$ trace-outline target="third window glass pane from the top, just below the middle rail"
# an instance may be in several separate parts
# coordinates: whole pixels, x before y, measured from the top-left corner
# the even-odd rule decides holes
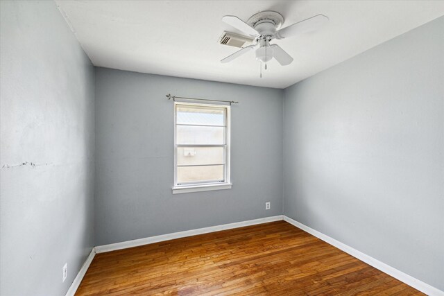
[[[178,166],[196,164],[223,164],[223,147],[178,147]]]

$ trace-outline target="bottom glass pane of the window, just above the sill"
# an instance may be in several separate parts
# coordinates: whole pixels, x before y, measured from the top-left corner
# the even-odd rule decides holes
[[[178,166],[178,183],[223,181],[223,166]]]

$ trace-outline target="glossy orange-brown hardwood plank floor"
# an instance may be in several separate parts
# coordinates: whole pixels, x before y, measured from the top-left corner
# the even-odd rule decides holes
[[[278,221],[97,254],[76,295],[424,295]]]

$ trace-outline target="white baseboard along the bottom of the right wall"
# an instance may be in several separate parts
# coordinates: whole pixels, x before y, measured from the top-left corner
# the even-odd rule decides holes
[[[399,279],[403,283],[413,288],[416,288],[416,290],[420,290],[422,293],[425,293],[429,296],[444,296],[444,292],[442,290],[430,286],[429,284],[426,284],[425,282],[420,281],[419,279],[411,277],[410,275],[407,275],[406,273],[397,270],[396,268],[393,268],[390,265],[387,265],[386,263],[383,263],[373,257],[370,257],[367,254],[364,254],[363,252],[359,252],[358,250],[350,247],[349,245],[345,245],[340,241],[336,241],[334,238],[331,238],[330,236],[318,232],[317,230],[310,228],[307,225],[299,223],[298,221],[293,220],[287,216],[284,216],[284,221],[287,221],[291,225],[294,225],[302,229],[303,231],[308,232],[309,234],[316,236],[317,238],[320,238],[326,243],[329,243],[330,245],[333,245],[334,247],[343,250],[343,252],[348,253],[361,261],[364,261],[368,265],[372,265],[374,268],[377,268],[378,270],[385,272],[387,275],[390,275],[395,279]]]

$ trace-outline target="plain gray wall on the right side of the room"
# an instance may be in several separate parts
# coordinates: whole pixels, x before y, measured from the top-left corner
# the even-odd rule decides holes
[[[284,91],[284,214],[441,290],[443,32],[441,17]]]

